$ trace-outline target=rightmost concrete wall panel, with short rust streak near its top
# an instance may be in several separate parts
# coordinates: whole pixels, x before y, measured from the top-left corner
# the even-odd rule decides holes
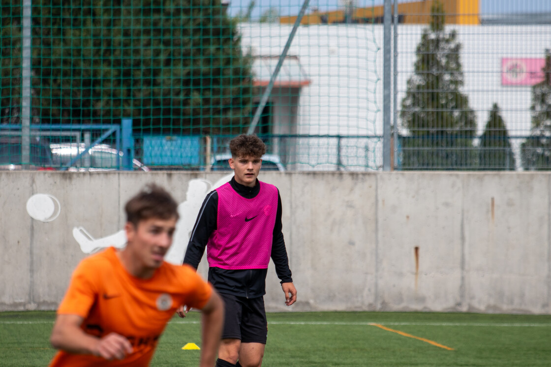
[[[469,310],[548,312],[550,177],[464,176]]]

